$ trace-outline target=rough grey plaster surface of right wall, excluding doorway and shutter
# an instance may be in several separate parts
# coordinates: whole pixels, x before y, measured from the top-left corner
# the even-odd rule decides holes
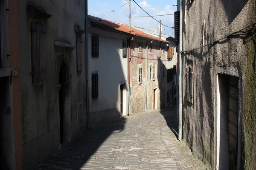
[[[252,65],[255,42],[248,37],[251,33],[246,32],[247,29],[226,36],[255,22],[255,0],[205,0],[194,1],[192,4],[184,0],[183,9],[182,51],[188,51],[182,53],[183,139],[194,155],[202,159],[210,169],[216,168],[217,74],[239,77],[238,135],[241,137],[238,139],[238,154],[244,160],[241,168],[250,169],[255,166],[255,156],[252,156],[255,151],[255,147],[252,147],[255,129],[252,121],[255,119],[255,82],[252,83],[255,78],[255,66]],[[204,45],[219,41],[207,45],[202,51],[203,34]],[[198,49],[193,50],[195,48]],[[193,104],[186,100],[187,65],[193,66]]]

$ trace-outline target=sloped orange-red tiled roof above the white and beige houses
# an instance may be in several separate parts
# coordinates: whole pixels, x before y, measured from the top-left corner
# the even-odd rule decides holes
[[[109,28],[112,28],[112,29],[115,29],[115,30],[118,30],[118,31],[126,32],[126,33],[129,33],[129,34],[134,34],[134,35],[137,35],[137,36],[140,36],[140,37],[145,37],[145,38],[148,38],[148,39],[151,39],[151,40],[157,40],[157,41],[162,41],[162,42],[169,43],[169,41],[161,40],[157,37],[154,37],[150,34],[144,33],[143,31],[137,30],[137,29],[132,28],[132,27],[131,27],[131,32],[129,32],[129,26],[127,26],[125,24],[114,23],[112,21],[105,20],[105,19],[98,18],[98,17],[93,17],[91,15],[88,15],[88,20],[90,22],[97,23],[97,24],[102,25],[102,26],[107,26]]]

